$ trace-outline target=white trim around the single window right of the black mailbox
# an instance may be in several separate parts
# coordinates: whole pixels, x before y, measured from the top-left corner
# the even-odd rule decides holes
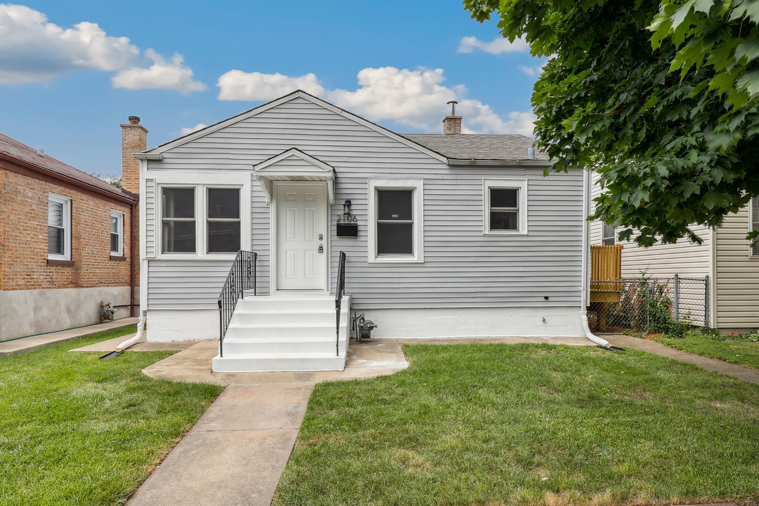
[[[367,262],[369,263],[423,263],[424,262],[424,180],[423,179],[370,179],[368,180]],[[376,190],[413,190],[414,254],[377,255]]]

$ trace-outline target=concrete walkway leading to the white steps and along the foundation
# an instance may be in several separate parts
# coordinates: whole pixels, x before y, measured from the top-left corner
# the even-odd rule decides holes
[[[143,372],[154,378],[228,386],[127,504],[269,506],[313,385],[405,369],[403,343],[472,342],[593,344],[585,338],[376,339],[351,343],[344,371],[212,373],[216,342],[201,341]]]

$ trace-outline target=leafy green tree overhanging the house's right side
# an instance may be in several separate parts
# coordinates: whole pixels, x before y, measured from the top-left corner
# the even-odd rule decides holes
[[[759,196],[759,0],[465,0],[550,58],[536,143],[600,174],[593,218],[642,246]],[[757,237],[757,233],[750,234]]]

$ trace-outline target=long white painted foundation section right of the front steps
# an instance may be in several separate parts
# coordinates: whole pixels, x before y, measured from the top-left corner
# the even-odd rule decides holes
[[[359,309],[373,338],[584,337],[579,306]],[[543,321],[543,319],[545,321]]]

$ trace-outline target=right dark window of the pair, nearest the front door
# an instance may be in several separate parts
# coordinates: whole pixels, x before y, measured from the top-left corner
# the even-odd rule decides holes
[[[237,253],[240,249],[240,190],[208,189],[208,253]]]

